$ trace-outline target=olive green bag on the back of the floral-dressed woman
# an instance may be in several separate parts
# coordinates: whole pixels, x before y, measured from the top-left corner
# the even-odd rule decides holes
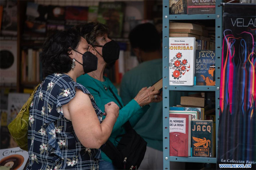
[[[30,95],[27,102],[22,106],[15,119],[8,125],[8,129],[13,139],[17,142],[20,149],[25,151],[28,151],[29,107],[34,98],[34,93],[36,92],[39,85],[36,86],[34,92]]]

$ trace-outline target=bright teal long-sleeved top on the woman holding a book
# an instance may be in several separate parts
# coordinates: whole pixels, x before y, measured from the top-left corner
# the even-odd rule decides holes
[[[110,92],[109,88],[112,89],[118,100],[124,106],[121,97],[118,96],[116,87],[111,83],[111,81],[108,78],[106,78],[105,76],[103,76],[103,78],[105,81],[101,82],[95,78],[92,78],[88,74],[85,74],[77,78],[77,83],[84,85],[84,87],[86,87],[89,90],[89,92],[93,95],[97,106],[100,108],[102,112],[105,112],[104,105],[110,101],[114,101],[119,106],[119,103],[117,102],[113,94]],[[104,86],[108,88],[107,91],[104,89]],[[129,120],[132,127],[134,127],[135,124],[143,116],[143,114],[148,110],[148,108],[149,106],[141,108],[140,105],[134,99],[131,99],[129,102],[127,102],[126,106],[119,110],[119,116],[113,127],[109,140],[115,146],[117,146],[118,142],[116,142],[116,136],[125,133],[123,124]],[[103,119],[105,119],[105,116],[103,116]],[[120,141],[120,139],[117,140]],[[101,152],[101,159],[112,162],[104,152]]]

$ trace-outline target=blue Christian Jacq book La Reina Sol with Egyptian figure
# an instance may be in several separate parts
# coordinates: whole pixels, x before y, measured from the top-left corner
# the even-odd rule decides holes
[[[215,85],[215,50],[196,50],[196,85]]]

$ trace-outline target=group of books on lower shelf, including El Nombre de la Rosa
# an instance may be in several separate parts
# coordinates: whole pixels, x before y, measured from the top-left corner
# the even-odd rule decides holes
[[[203,97],[189,96],[181,97],[181,105],[170,107],[170,156],[215,156],[215,115],[209,115],[215,112],[212,109],[205,112],[205,108]],[[187,128],[186,123],[191,125],[181,132],[184,127]],[[176,142],[180,142],[180,148],[175,145]],[[190,146],[188,152],[191,153],[188,153],[187,147]]]

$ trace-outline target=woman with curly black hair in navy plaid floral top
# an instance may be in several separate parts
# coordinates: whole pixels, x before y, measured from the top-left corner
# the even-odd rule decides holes
[[[106,104],[101,123],[93,96],[76,83],[97,69],[95,51],[70,29],[49,37],[40,58],[45,78],[29,109],[27,169],[98,169],[98,148],[110,136],[119,107]]]

